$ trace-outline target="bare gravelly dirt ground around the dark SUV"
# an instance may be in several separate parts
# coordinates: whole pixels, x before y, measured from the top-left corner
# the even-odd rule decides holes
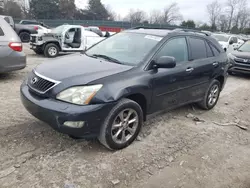
[[[1,188],[250,188],[250,77],[230,77],[212,111],[186,106],[151,117],[138,141],[110,152],[26,112],[19,86],[45,60],[26,52],[26,69],[0,75]],[[239,120],[248,130],[222,125]]]

